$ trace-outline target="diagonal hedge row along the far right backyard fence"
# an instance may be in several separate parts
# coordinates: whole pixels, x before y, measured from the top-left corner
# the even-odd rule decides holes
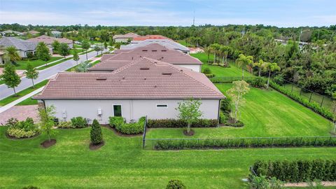
[[[272,80],[269,81],[269,85],[273,87],[275,90],[286,94],[286,96],[290,97],[291,99],[295,100],[296,102],[299,102],[303,106],[306,106],[307,108],[311,109],[312,111],[321,114],[321,116],[328,118],[332,120],[333,115],[332,112],[329,111],[328,109],[325,109],[324,107],[321,107],[320,104],[316,102],[309,102],[309,100],[304,99],[300,97],[299,94],[290,92],[290,90],[286,90],[285,88],[281,87],[280,85],[274,83]]]

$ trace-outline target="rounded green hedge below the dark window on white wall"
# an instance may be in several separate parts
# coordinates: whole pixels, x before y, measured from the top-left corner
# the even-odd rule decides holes
[[[125,120],[122,117],[109,118],[110,126],[116,128],[118,132],[123,134],[139,134],[144,132],[145,122],[146,117],[140,118],[137,123],[125,123]]]

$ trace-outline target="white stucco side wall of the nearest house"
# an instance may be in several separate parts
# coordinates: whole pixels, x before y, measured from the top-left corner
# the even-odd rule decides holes
[[[181,99],[46,99],[45,106],[54,105],[56,117],[64,120],[62,112],[66,111],[66,119],[82,116],[83,118],[97,119],[99,123],[108,124],[109,117],[113,116],[113,104],[122,106],[123,117],[127,121],[138,120],[142,116],[149,119],[176,119],[178,111],[176,107]],[[202,118],[218,118],[218,99],[202,99],[200,110]],[[166,108],[157,108],[157,104],[167,104]],[[98,109],[102,109],[102,117],[98,116]]]

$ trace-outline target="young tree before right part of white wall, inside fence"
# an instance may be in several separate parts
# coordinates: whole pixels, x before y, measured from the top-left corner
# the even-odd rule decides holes
[[[179,118],[188,124],[188,134],[190,133],[190,126],[203,115],[202,111],[200,111],[201,104],[200,100],[191,98],[179,102],[179,106],[176,108],[179,111]]]

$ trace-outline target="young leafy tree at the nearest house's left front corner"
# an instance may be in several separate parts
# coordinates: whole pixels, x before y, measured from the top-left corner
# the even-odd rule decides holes
[[[54,116],[56,113],[55,106],[47,106],[45,109],[38,109],[38,116],[40,118],[40,128],[43,133],[48,136],[50,141],[50,137],[55,134],[55,130],[52,130],[54,127]]]

